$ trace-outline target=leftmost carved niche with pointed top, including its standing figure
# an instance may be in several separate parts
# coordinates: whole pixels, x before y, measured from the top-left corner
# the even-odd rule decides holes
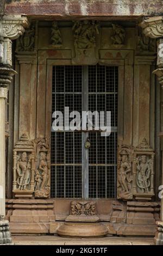
[[[14,148],[13,192],[16,197],[21,194],[31,197],[34,192],[34,170],[34,146],[24,134]]]

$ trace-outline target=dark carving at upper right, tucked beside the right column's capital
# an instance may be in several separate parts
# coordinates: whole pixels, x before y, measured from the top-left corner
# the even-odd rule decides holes
[[[139,35],[137,36],[137,50],[140,52],[155,52],[156,51],[156,41],[153,38],[149,38],[142,33],[142,29],[139,30]]]

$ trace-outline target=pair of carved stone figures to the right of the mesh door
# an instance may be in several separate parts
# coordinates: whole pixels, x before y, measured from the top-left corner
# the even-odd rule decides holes
[[[151,199],[154,195],[154,153],[146,139],[134,149],[127,145],[118,148],[118,198]]]

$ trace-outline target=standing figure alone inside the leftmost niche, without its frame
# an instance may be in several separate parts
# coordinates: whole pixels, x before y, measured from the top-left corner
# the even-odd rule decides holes
[[[30,168],[30,156],[28,159],[27,153],[23,152],[16,164],[18,190],[27,190],[27,188],[30,188]]]

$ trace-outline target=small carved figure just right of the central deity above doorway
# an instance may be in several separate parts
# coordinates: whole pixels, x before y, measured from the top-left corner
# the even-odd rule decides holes
[[[111,36],[113,44],[124,44],[124,38],[126,36],[125,29],[120,25],[112,24],[114,35]]]

